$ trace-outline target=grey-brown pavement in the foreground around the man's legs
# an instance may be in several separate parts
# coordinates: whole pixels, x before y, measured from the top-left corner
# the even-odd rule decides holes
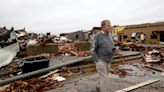
[[[143,77],[141,78],[136,77],[136,78],[138,78],[137,82],[136,80],[133,81],[133,80],[122,79],[122,78],[113,78],[111,76],[109,80],[107,80],[109,84],[104,84],[104,86],[108,86],[111,89],[110,92],[114,92],[122,88],[126,88],[131,85],[135,85],[136,83],[140,83],[150,79],[147,77],[145,77],[144,79],[142,79]],[[155,78],[155,77],[151,77],[151,78]],[[131,77],[131,79],[134,78]],[[45,92],[99,92],[96,89],[96,84],[98,80],[99,80],[99,75],[95,73],[92,75],[73,79],[69,82],[64,83],[64,86],[61,88],[52,89]],[[157,83],[141,87],[131,92],[163,92],[163,90],[164,90],[164,80],[162,79]]]

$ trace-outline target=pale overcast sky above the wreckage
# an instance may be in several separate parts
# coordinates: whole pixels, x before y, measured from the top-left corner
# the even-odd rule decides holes
[[[0,27],[55,34],[164,21],[164,0],[0,0]]]

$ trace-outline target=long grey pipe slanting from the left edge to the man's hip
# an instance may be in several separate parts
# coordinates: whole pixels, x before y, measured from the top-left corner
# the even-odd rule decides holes
[[[40,70],[37,70],[37,71],[29,72],[29,73],[22,74],[22,75],[19,75],[19,76],[15,76],[15,77],[12,77],[12,78],[9,78],[9,79],[6,79],[6,80],[1,80],[0,81],[0,86],[4,86],[6,84],[9,84],[11,82],[14,82],[14,81],[17,81],[17,80],[20,80],[20,79],[28,78],[28,77],[38,75],[38,74],[42,74],[42,73],[46,73],[48,71],[52,71],[52,70],[61,68],[63,66],[71,65],[71,64],[74,64],[74,63],[78,63],[78,62],[81,62],[81,61],[88,60],[88,59],[92,59],[92,56],[82,57],[82,58],[79,58],[79,59],[76,59],[76,60],[68,61],[66,63],[62,63],[62,64],[54,65],[54,66],[51,66],[51,67],[48,67],[48,68],[44,68],[44,69],[40,69]]]

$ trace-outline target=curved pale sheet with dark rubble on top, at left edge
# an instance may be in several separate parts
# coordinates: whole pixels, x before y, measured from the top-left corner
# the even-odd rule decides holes
[[[14,29],[0,28],[0,67],[11,63],[18,51],[19,44]]]

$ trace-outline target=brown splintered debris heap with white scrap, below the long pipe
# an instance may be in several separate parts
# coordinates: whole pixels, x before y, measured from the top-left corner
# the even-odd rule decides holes
[[[54,70],[42,76],[12,82],[0,88],[1,92],[41,92],[62,87],[75,74],[67,69]]]

